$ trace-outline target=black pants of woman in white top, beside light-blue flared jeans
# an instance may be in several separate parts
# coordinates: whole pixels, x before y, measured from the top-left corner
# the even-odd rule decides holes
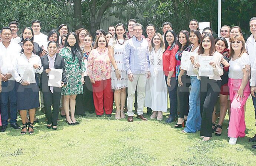
[[[211,121],[213,110],[220,93],[220,80],[211,80],[209,77],[201,77],[200,83],[200,111],[201,111],[201,129],[200,135],[211,137]]]

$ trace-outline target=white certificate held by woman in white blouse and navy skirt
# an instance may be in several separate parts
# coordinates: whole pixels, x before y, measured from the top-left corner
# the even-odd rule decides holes
[[[36,83],[35,70],[32,65],[19,66],[20,77],[30,84]]]

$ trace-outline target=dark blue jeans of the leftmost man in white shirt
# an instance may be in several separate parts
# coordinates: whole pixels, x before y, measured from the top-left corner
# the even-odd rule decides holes
[[[8,99],[10,100],[10,124],[17,122],[17,102],[16,102],[16,87],[15,81],[2,81],[1,97],[1,119],[3,125],[8,125]]]

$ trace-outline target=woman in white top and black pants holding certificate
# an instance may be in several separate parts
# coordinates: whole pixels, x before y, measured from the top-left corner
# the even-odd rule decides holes
[[[220,66],[221,58],[221,53],[215,51],[213,36],[204,35],[193,67],[193,71],[197,73],[197,78],[201,79],[200,109],[202,121],[200,135],[203,138],[202,141],[209,141],[212,137],[211,120],[220,93],[220,76],[223,75],[223,69]]]

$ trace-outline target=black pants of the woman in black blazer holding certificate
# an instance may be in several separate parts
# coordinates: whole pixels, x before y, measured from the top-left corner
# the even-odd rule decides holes
[[[57,88],[57,87],[54,87]],[[47,124],[57,125],[59,116],[61,90],[55,91],[53,93],[50,91],[43,92],[43,102],[45,105],[45,117],[47,118]],[[51,106],[53,110],[51,109]]]

